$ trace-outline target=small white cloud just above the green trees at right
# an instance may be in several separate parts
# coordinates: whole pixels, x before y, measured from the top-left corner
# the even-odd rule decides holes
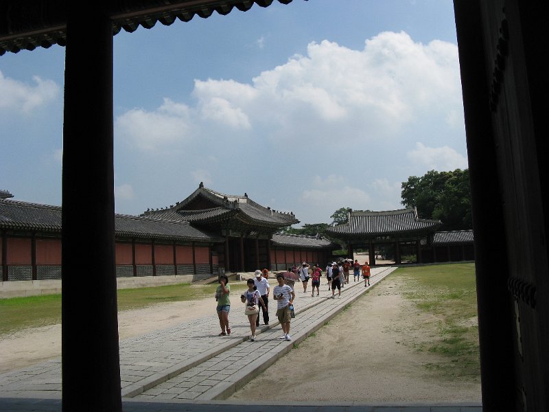
[[[416,149],[410,150],[406,156],[417,165],[424,166],[425,170],[449,171],[468,167],[467,159],[448,146],[430,148],[418,142]]]

